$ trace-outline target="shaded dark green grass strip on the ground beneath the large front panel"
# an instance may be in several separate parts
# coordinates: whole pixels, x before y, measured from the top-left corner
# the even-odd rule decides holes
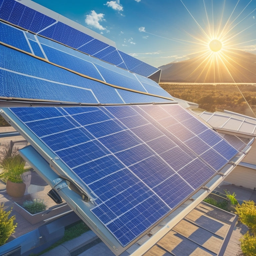
[[[59,241],[57,241],[47,249],[43,250],[39,254],[30,254],[29,256],[38,256],[43,253],[46,253],[52,250],[53,248],[57,247],[58,245],[82,235],[88,230],[90,230],[90,228],[82,220],[80,220],[72,225],[65,227],[64,236]]]

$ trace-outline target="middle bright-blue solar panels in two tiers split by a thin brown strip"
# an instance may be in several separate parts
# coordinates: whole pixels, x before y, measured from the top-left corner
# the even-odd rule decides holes
[[[0,41],[30,53],[28,55],[0,45],[0,72],[3,77],[1,97],[75,103],[170,102],[147,95],[170,98],[165,90],[149,78],[3,22],[0,22]]]

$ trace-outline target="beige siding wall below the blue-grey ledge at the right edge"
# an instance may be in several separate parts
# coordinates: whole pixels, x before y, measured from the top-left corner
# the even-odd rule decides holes
[[[225,181],[244,188],[254,189],[256,187],[256,170],[236,166],[225,178]]]

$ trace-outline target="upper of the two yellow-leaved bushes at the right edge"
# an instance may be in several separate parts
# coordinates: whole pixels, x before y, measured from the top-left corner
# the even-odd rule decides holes
[[[244,201],[236,206],[236,213],[240,221],[246,225],[250,231],[256,235],[256,205],[254,201]]]

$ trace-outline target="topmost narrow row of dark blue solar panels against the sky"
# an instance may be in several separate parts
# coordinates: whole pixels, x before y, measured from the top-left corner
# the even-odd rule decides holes
[[[142,76],[149,77],[159,71],[158,68],[15,0],[0,0],[0,18]]]

